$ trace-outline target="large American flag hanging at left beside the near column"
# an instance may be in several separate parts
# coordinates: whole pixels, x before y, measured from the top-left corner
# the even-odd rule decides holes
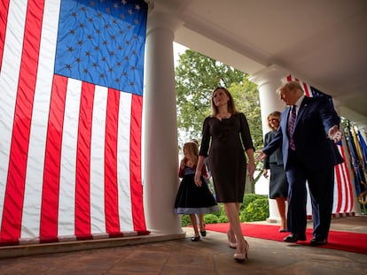
[[[149,233],[147,4],[0,0],[0,244]]]

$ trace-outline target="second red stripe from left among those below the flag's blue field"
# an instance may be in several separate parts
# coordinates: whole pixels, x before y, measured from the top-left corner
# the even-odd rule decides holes
[[[75,235],[90,235],[90,139],[94,85],[82,82],[76,149]]]

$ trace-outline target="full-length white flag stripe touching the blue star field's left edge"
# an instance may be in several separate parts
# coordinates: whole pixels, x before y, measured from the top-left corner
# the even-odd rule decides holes
[[[29,136],[21,238],[35,238],[40,233],[44,152],[57,41],[55,29],[59,24],[59,4],[55,2],[46,1],[43,12],[41,48]]]

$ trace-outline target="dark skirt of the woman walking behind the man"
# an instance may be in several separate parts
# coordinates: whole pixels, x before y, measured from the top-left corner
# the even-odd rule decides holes
[[[269,182],[269,198],[287,198],[288,197],[288,181],[286,180],[283,164],[269,164],[270,166],[270,182]]]

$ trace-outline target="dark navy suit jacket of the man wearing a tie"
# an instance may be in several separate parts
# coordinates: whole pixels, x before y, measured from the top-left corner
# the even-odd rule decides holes
[[[280,129],[262,150],[270,156],[281,145],[285,170],[288,160],[287,126],[290,111],[290,107],[283,111]],[[343,162],[334,141],[328,138],[329,129],[339,124],[340,118],[327,97],[304,97],[294,125],[293,141],[299,160],[308,170],[323,169]]]

